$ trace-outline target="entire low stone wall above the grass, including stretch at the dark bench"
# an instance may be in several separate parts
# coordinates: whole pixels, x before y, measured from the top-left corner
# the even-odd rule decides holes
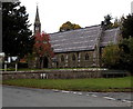
[[[2,79],[76,79],[110,78],[129,76],[126,71],[109,71],[94,69],[44,70],[44,71],[3,71]]]

